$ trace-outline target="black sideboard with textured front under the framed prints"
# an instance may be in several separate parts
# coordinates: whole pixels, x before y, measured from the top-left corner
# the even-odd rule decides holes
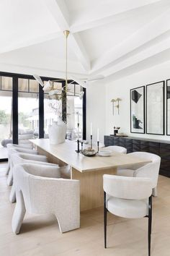
[[[104,145],[105,147],[117,145],[127,148],[127,153],[143,151],[160,155],[161,167],[159,174],[170,177],[170,141],[105,135]]]

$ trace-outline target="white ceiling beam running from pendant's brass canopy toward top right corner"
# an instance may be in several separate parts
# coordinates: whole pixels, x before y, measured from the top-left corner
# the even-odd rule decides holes
[[[168,0],[163,0],[168,3]],[[112,22],[118,22],[122,19],[128,19],[128,17],[138,17],[143,9],[154,9],[158,5],[162,4],[161,0],[153,1],[134,1],[131,0],[127,4],[122,4],[119,8],[111,8],[108,4],[91,7],[91,9],[86,9],[79,11],[78,13],[72,14],[71,20],[71,31],[72,33],[81,32],[84,30],[89,30],[94,27],[100,27],[102,25],[107,25]],[[119,4],[117,4],[117,7]],[[102,9],[102,13],[101,13]]]

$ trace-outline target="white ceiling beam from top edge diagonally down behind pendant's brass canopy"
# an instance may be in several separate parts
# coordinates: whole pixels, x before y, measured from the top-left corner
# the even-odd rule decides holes
[[[68,9],[66,7],[65,2],[63,0],[44,0],[44,1],[50,13],[53,15],[55,21],[57,22],[58,26],[61,28],[61,30],[62,31],[71,30]],[[82,67],[84,68],[84,70],[89,72],[90,60],[83,46],[83,43],[81,42],[81,38],[79,38],[78,34],[71,33],[71,35],[69,35],[68,37],[68,40],[69,40],[69,46],[74,51],[74,54],[76,54]]]

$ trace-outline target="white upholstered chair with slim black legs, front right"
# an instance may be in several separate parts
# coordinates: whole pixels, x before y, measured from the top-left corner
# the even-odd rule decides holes
[[[122,218],[148,217],[148,255],[151,255],[152,182],[104,174],[104,247],[107,248],[107,211]]]

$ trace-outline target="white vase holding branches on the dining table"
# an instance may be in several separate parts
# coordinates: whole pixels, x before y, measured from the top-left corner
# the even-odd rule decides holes
[[[54,121],[52,125],[48,127],[48,134],[50,144],[60,144],[65,142],[66,139],[66,123],[61,119]]]

